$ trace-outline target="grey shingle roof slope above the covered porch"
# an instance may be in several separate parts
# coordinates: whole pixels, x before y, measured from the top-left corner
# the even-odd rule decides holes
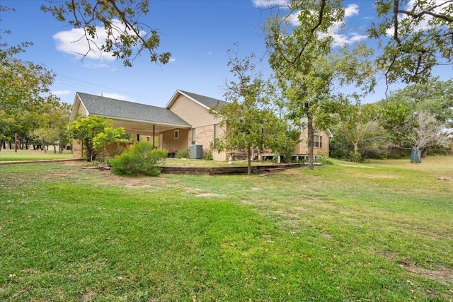
[[[166,108],[116,100],[103,96],[78,92],[81,102],[89,115],[99,115],[120,120],[155,122],[190,127],[188,122]]]

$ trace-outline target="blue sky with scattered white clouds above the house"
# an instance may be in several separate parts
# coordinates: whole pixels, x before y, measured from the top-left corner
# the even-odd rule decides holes
[[[171,62],[158,65],[143,55],[132,68],[108,55],[86,57],[82,62],[71,53],[76,46],[71,43],[77,36],[74,30],[40,11],[43,3],[0,0],[1,5],[16,9],[1,13],[1,29],[11,30],[2,40],[8,45],[34,43],[21,59],[43,64],[57,74],[51,88],[64,103],[72,104],[77,91],[160,107],[177,89],[224,99],[224,83],[233,79],[227,50],[239,43],[239,57],[265,52],[260,26],[269,13],[263,9],[268,0],[150,0],[150,12],[142,22],[159,30],[159,50],[171,52]],[[338,42],[366,40],[365,28],[375,18],[372,5],[370,0],[345,1],[347,30],[341,34],[333,30]],[[450,79],[452,68],[438,74]],[[382,98],[385,87],[381,84],[376,91],[367,103]]]

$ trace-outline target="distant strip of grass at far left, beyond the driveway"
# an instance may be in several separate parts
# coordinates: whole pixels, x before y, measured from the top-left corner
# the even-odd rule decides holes
[[[33,149],[18,149],[17,152],[14,149],[1,149],[0,161],[39,161],[39,160],[51,160],[51,159],[69,159],[72,158],[71,151],[63,151],[62,153],[54,153],[52,146],[46,152],[43,150]]]

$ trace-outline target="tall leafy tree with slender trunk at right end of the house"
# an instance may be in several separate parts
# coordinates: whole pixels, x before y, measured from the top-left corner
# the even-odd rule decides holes
[[[363,60],[369,50],[360,46],[352,51],[355,53],[346,48],[332,52],[329,33],[343,20],[342,2],[291,1],[289,12],[283,16],[281,10],[275,13],[265,27],[270,66],[289,99],[290,117],[300,126],[303,117],[308,120],[304,126],[308,129],[309,170],[314,168],[314,125],[325,129],[330,113],[348,100],[335,88],[352,84],[367,86],[369,91],[374,87],[372,66]]]

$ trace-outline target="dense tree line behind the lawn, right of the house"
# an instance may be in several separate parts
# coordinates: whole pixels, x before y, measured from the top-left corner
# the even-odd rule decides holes
[[[377,103],[350,105],[336,115],[331,156],[350,161],[449,153],[453,132],[453,81],[431,79],[391,93]]]

